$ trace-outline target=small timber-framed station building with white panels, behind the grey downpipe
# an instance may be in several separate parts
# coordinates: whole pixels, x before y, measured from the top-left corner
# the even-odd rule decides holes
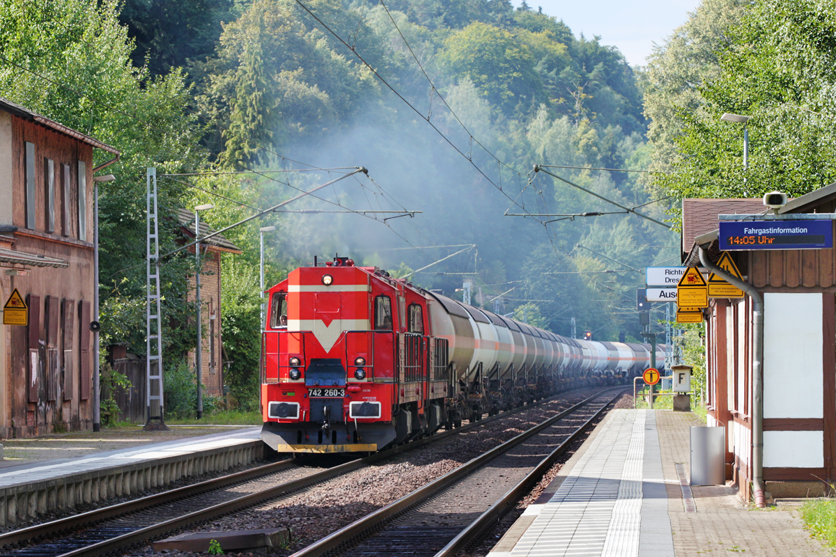
[[[767,212],[760,199],[683,200],[682,258],[716,264],[719,215]],[[778,215],[836,212],[836,184],[790,200]],[[780,218],[780,216],[778,217]],[[762,479],[773,498],[818,496],[836,480],[836,251],[729,251],[762,295]],[[752,499],[752,299],[711,299],[706,311],[708,423],[726,427],[726,479]]]

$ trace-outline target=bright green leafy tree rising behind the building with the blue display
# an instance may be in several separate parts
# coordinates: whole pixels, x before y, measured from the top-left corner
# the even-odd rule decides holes
[[[673,98],[658,99],[658,110],[678,115],[668,126],[675,133],[651,136],[660,149],[676,153],[675,174],[656,177],[655,185],[677,196],[740,197],[769,190],[798,196],[833,182],[832,3],[769,0],[747,7],[739,25],[727,17],[706,19],[721,27],[722,36],[712,35],[719,47],[713,52],[716,62],[696,87],[680,86]],[[670,67],[676,74],[693,48],[674,50],[659,59],[660,72]],[[679,106],[686,89],[696,89],[690,110]],[[724,112],[752,116],[745,181],[742,129],[721,121]]]

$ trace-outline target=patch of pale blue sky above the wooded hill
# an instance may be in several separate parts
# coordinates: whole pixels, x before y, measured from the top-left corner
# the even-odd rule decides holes
[[[700,0],[527,0],[534,10],[563,19],[572,33],[587,38],[600,35],[601,43],[618,47],[630,65],[645,65],[653,43],[665,37],[693,12]],[[513,0],[519,6],[522,0]]]

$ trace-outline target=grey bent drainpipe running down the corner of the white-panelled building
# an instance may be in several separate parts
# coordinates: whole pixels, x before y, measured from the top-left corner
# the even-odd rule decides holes
[[[737,286],[752,298],[752,489],[755,494],[755,504],[762,509],[767,506],[767,499],[763,494],[763,297],[757,289],[748,282],[741,281],[736,276],[731,276],[720,267],[711,263],[708,253],[697,246],[700,252],[702,266],[719,276],[732,286]]]

